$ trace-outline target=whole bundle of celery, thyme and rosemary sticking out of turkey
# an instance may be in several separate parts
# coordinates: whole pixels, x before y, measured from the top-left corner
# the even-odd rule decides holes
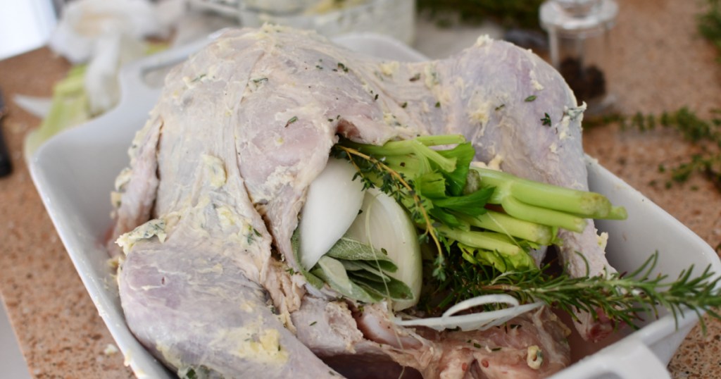
[[[503,293],[521,303],[545,302],[572,317],[578,310],[603,312],[616,325],[633,326],[648,311],[658,315],[658,306],[676,316],[690,309],[719,317],[712,310],[721,305],[717,275],[706,269],[696,276],[691,267],[676,280],[652,276],[657,254],[627,275],[572,278],[551,266],[535,266],[528,251],[557,243],[559,227],[580,232],[584,218],[626,217],[623,208],[598,193],[469,167],[474,151],[461,136],[423,136],[384,146],[342,139],[332,155],[352,162],[366,188],[379,188],[404,206],[420,239],[435,251],[427,260],[430,277],[424,279],[430,289],[419,305],[429,313]]]

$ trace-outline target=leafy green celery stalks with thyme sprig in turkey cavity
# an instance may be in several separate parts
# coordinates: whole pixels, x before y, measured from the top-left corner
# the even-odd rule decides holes
[[[455,146],[430,148],[441,145]],[[355,165],[364,188],[377,187],[406,209],[424,230],[421,239],[435,246],[433,276],[441,281],[446,256],[457,247],[473,264],[533,269],[528,251],[555,242],[557,228],[580,232],[584,218],[625,217],[624,209],[598,193],[469,167],[475,151],[463,136],[420,136],[383,146],[341,139],[332,154]],[[487,215],[487,204],[504,212]]]

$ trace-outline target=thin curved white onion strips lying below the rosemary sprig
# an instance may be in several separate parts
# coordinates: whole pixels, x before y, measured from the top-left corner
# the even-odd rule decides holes
[[[488,312],[472,313],[469,315],[454,315],[461,310],[477,307],[478,305],[505,303],[510,307],[501,310],[492,310]],[[443,329],[461,328],[461,331],[480,330],[485,331],[487,328],[502,325],[518,315],[522,315],[528,311],[544,305],[544,302],[532,302],[530,304],[518,305],[518,300],[510,295],[482,295],[464,300],[448,308],[441,317],[433,318],[412,318],[402,320],[395,318],[394,322],[399,326],[427,326],[436,331]]]

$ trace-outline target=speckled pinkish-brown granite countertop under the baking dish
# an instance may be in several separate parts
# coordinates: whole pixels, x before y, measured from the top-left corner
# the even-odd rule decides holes
[[[677,110],[708,116],[721,108],[721,64],[696,34],[699,1],[619,1],[612,32],[609,87],[622,112]],[[0,88],[49,96],[68,64],[40,49],[0,61]],[[112,338],[43,208],[22,160],[22,140],[37,118],[12,102],[4,133],[14,173],[0,180],[0,295],[36,378],[131,378],[121,354],[107,354]],[[658,165],[673,165],[694,147],[673,131],[639,133],[603,126],[585,131],[588,154],[694,230],[709,245],[721,242],[721,193],[702,178],[665,188]],[[694,188],[694,190],[691,190]],[[669,369],[674,378],[721,378],[721,322],[707,321],[686,339]]]

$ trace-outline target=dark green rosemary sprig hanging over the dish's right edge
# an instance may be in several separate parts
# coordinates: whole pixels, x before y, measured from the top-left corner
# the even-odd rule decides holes
[[[451,290],[441,306],[478,295],[507,294],[521,303],[542,301],[576,318],[575,311],[583,310],[594,317],[606,315],[616,326],[623,323],[637,328],[645,314],[658,318],[659,307],[671,311],[678,323],[684,312],[701,315],[707,312],[714,318],[721,315],[714,308],[721,305],[721,276],[710,266],[699,275],[694,267],[681,271],[676,280],[668,275],[654,275],[658,253],[654,253],[630,274],[613,273],[606,276],[572,278],[554,274],[550,266],[541,270],[497,272],[490,266],[468,267],[460,260],[448,262],[448,276],[439,288]],[[703,319],[702,328],[705,330]]]

